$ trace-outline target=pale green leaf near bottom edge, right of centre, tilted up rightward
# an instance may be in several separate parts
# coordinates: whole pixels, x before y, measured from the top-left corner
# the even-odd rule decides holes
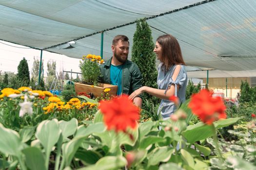
[[[157,165],[159,162],[167,162],[174,152],[175,149],[169,146],[155,148],[148,153],[148,165]]]

